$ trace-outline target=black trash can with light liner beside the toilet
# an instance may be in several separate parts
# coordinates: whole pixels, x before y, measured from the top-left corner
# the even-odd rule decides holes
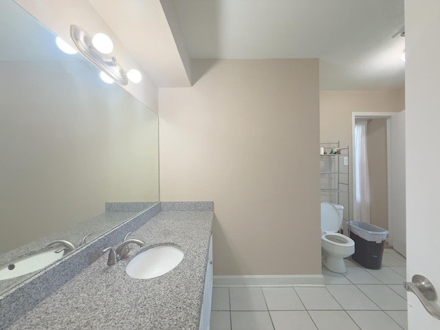
[[[380,270],[384,255],[384,242],[388,230],[361,221],[350,222],[350,238],[355,241],[351,259],[370,270]]]

